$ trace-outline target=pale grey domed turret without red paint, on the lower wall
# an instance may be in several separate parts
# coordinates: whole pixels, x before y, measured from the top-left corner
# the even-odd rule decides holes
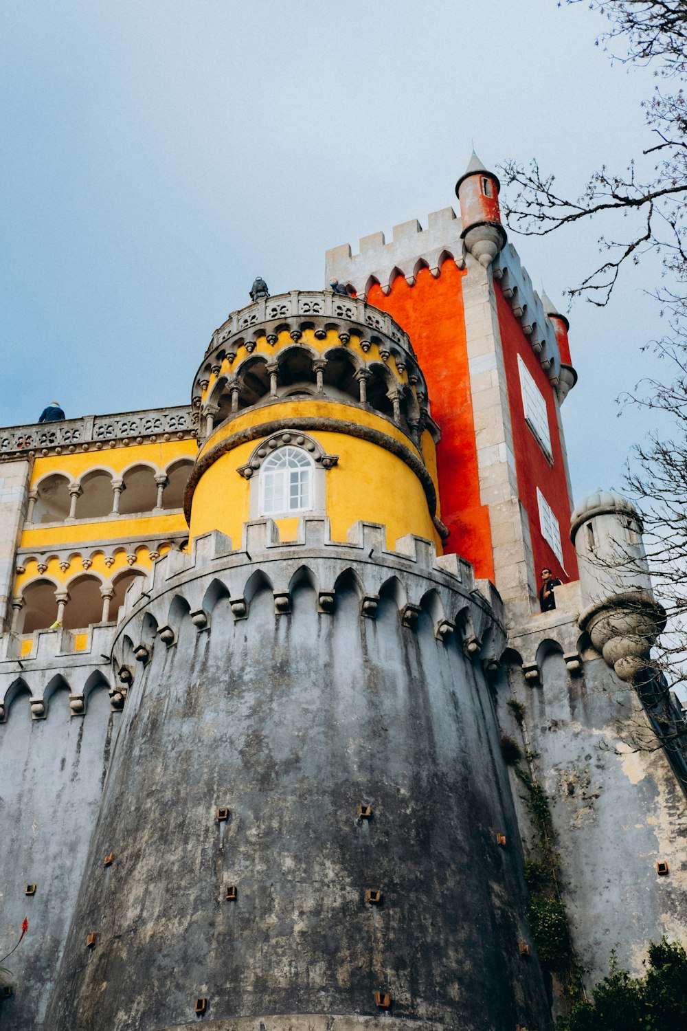
[[[665,625],[651,589],[642,529],[638,510],[614,491],[585,498],[571,521],[586,605],[579,626],[621,680],[633,680],[646,668]]]

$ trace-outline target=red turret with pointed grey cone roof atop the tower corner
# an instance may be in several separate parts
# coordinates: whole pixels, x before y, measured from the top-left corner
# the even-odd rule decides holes
[[[467,250],[486,268],[506,246],[506,230],[501,224],[501,184],[487,171],[473,151],[468,167],[455,184],[460,202],[462,239]]]

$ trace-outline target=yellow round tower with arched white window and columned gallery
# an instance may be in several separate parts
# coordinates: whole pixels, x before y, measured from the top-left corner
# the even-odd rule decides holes
[[[305,513],[332,540],[354,523],[413,533],[441,553],[436,443],[412,344],[355,298],[294,291],[230,315],[196,375],[204,433],[184,498],[192,537],[273,519],[295,540]]]

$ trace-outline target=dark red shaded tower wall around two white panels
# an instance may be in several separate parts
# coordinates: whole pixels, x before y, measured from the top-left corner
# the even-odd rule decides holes
[[[494,282],[494,293],[496,295],[499,327],[501,329],[501,340],[504,348],[508,396],[510,398],[513,447],[518,476],[518,495],[529,518],[535,570],[539,574],[541,569],[550,566],[554,575],[559,576],[563,581],[577,579],[577,558],[569,535],[571,501],[568,495],[565,468],[560,447],[560,438],[558,436],[553,389],[549,383],[549,377],[542,368],[539,358],[531,350],[520,324],[513,314],[511,306],[504,297],[497,282]],[[553,452],[553,466],[549,464],[535,434],[525,423],[522,407],[522,391],[520,389],[520,373],[518,371],[518,355],[522,358],[522,361],[546,400],[551,450]],[[537,503],[538,487],[558,520],[564,569],[561,568],[560,563],[540,532],[539,506]],[[537,579],[539,580],[539,575],[537,575]]]

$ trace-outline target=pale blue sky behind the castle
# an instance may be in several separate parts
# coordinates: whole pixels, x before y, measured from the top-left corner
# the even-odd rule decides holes
[[[7,0],[0,10],[0,424],[185,403],[212,330],[317,288],[324,251],[455,203],[472,146],[536,156],[576,192],[648,145],[651,70],[613,66],[598,15],[556,0],[322,4]],[[514,242],[560,300],[602,227]],[[571,318],[573,487],[621,486],[651,429],[615,398],[660,333],[628,270]]]

